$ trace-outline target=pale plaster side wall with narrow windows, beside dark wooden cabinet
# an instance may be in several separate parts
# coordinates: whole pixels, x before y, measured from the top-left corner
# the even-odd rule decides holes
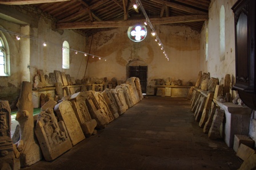
[[[234,13],[231,7],[236,0],[211,1],[209,20],[202,28],[200,40],[200,69],[202,72],[210,72],[211,77],[223,81],[226,74],[235,75],[235,37],[234,37]],[[220,55],[220,10],[225,9],[225,56]],[[206,60],[206,28],[208,29],[208,60]],[[233,80],[234,81],[234,80]],[[234,82],[233,82],[234,83]]]

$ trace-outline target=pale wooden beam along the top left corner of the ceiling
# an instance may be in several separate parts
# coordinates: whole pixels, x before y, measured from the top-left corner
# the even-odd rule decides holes
[[[4,5],[29,5],[37,3],[53,3],[53,2],[63,2],[70,0],[0,0],[0,4]]]

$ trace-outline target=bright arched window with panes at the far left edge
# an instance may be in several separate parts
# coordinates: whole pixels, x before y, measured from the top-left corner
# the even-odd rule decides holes
[[[0,32],[0,76],[10,76],[9,48],[2,32]]]

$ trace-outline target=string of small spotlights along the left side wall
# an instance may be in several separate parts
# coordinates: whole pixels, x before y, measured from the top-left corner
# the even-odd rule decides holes
[[[9,34],[15,35],[17,40],[21,40],[21,38],[27,38],[27,39],[31,39],[31,40],[35,40],[35,41],[41,42],[44,47],[46,47],[47,44],[53,44],[53,45],[59,46],[59,47],[62,48],[62,49],[66,48],[66,49],[69,49],[70,51],[74,51],[75,54],[82,53],[84,56],[88,56],[88,57],[91,56],[91,57],[93,57],[93,58],[94,58],[94,57],[98,57],[99,60],[103,59],[102,57],[97,56],[97,55],[92,55],[92,54],[90,54],[90,53],[78,51],[77,49],[68,48],[68,47],[65,47],[65,46],[63,46],[63,45],[59,45],[59,44],[56,44],[56,43],[53,43],[53,42],[47,42],[47,41],[45,41],[45,40],[38,39],[38,38],[34,38],[34,37],[32,37],[32,36],[22,35],[22,34],[19,34],[19,33],[17,33],[17,32],[5,30],[4,28],[1,28],[1,27],[0,27],[0,31],[2,31],[2,32],[7,32],[7,33],[9,33]],[[107,59],[105,59],[105,61],[107,61]]]

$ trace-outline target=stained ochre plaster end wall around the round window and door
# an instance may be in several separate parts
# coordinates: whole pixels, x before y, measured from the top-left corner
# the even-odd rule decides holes
[[[155,78],[172,78],[195,83],[199,72],[200,34],[183,26],[155,26],[157,34],[169,56],[167,61],[161,47],[147,29],[145,40],[132,42],[127,27],[99,32],[93,36],[91,53],[102,57],[89,58],[86,77],[112,77],[126,80],[126,66],[136,61],[148,66],[148,82]],[[105,61],[106,59],[106,61]],[[139,62],[141,61],[141,62]],[[132,63],[134,65],[135,63]]]

